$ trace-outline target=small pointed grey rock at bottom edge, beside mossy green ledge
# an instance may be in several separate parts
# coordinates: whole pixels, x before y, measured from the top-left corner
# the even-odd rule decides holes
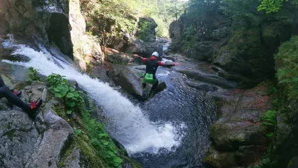
[[[89,168],[88,160],[81,155],[81,150],[75,149],[72,154],[66,158],[63,168]]]

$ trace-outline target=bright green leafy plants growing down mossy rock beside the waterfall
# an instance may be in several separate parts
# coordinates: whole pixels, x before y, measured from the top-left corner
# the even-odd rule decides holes
[[[47,82],[50,87],[49,90],[58,98],[63,98],[67,108],[67,114],[72,114],[76,109],[81,113],[83,127],[87,132],[92,146],[96,149],[97,154],[104,159],[109,168],[121,168],[123,162],[117,156],[118,151],[110,136],[104,129],[104,124],[97,122],[90,117],[90,111],[85,108],[83,97],[79,94],[81,91],[75,91],[64,76],[59,74],[52,74],[48,76]],[[74,125],[72,125],[74,126]],[[73,127],[74,135],[79,136],[82,130]]]

